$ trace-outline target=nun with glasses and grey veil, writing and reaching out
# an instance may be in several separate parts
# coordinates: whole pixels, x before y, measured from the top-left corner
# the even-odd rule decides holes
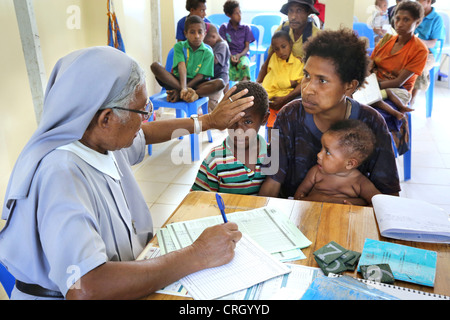
[[[111,47],[56,64],[2,212],[0,261],[17,280],[12,299],[139,298],[232,259],[241,234],[227,223],[173,254],[134,261],[153,227],[131,165],[143,160],[145,144],[169,140],[177,128],[194,132],[192,119],[142,124],[151,114],[143,74]],[[234,90],[199,117],[203,130],[230,126],[253,104]]]

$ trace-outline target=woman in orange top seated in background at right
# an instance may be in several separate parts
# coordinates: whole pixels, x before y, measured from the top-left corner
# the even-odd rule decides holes
[[[394,25],[397,35],[386,35],[372,52],[374,72],[380,89],[404,88],[408,96],[414,88],[417,77],[427,63],[428,49],[414,32],[424,16],[423,7],[416,1],[403,1],[397,5]],[[389,99],[384,102],[393,109],[397,105]],[[376,108],[385,118],[391,131],[399,131],[402,120],[381,108]]]

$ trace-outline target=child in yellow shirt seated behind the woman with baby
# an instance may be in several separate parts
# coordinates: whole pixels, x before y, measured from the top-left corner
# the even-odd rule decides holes
[[[262,86],[269,95],[270,115],[267,127],[273,127],[278,111],[288,102],[301,95],[300,81],[303,78],[303,63],[292,54],[292,40],[283,30],[272,36],[272,55]],[[269,139],[270,141],[270,139]]]

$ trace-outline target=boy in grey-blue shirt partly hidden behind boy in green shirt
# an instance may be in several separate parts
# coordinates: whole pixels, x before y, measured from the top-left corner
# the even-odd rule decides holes
[[[224,93],[228,91],[228,69],[230,67],[230,49],[228,48],[228,44],[222,37],[219,35],[217,28],[212,23],[206,24],[206,36],[203,42],[209,45],[214,52],[214,77],[213,79],[222,79],[225,84]],[[209,97],[208,109],[209,112],[214,110],[215,106],[218,103],[218,100],[221,96],[221,92],[218,92],[214,96]]]

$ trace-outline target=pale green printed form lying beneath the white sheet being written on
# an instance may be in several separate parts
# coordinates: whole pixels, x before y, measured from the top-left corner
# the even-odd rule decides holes
[[[263,207],[234,212],[227,214],[227,218],[269,253],[301,249],[311,244],[289,218],[276,208]],[[204,229],[220,223],[223,223],[222,217],[217,215],[172,223],[167,226],[167,230],[175,248],[181,249],[192,244]],[[292,253],[286,252],[288,256]]]

